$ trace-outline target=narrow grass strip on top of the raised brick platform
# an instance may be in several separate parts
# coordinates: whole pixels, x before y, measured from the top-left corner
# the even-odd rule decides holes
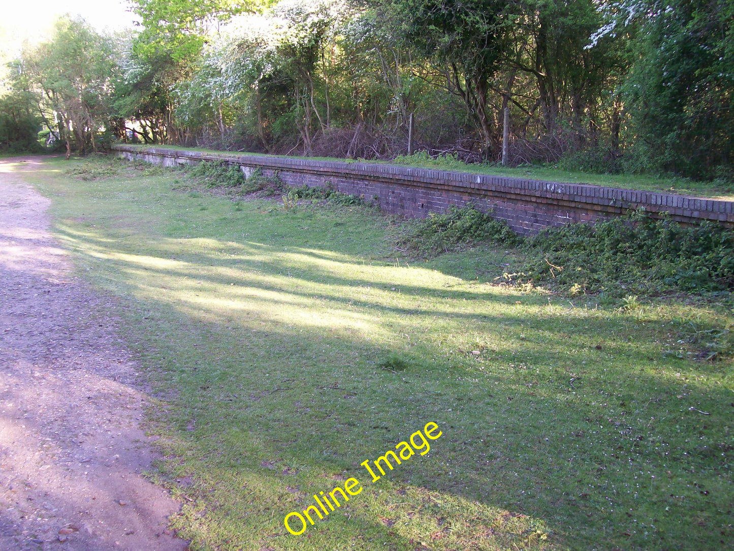
[[[143,146],[141,146],[143,147]],[[225,151],[213,151],[209,149],[183,148],[175,145],[155,145],[156,148],[178,149],[186,151],[202,151],[206,153],[226,154]],[[247,153],[244,153],[247,154]],[[257,154],[250,154],[257,155]],[[282,155],[271,155],[282,156]],[[345,161],[333,157],[295,157],[297,159],[311,159],[321,161]],[[383,161],[368,161],[384,164]],[[493,176],[509,176],[511,178],[523,178],[531,180],[561,181],[571,184],[593,184],[597,186],[619,187],[628,190],[659,191],[677,193],[680,195],[696,195],[700,197],[722,199],[723,201],[734,201],[734,185],[722,184],[715,181],[694,181],[676,176],[654,176],[649,174],[587,174],[573,170],[563,170],[550,166],[525,166],[518,168],[504,168],[482,165],[467,165],[449,159],[426,160],[421,156],[399,159],[398,164],[421,168],[433,168],[437,170],[453,170],[456,172],[470,172],[478,174],[491,174]]]

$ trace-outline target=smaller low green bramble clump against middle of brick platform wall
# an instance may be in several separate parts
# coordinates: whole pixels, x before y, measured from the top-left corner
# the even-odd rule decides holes
[[[426,257],[472,245],[492,242],[516,245],[520,238],[501,220],[480,212],[473,205],[450,206],[442,215],[429,212],[398,240],[398,246],[416,256]]]

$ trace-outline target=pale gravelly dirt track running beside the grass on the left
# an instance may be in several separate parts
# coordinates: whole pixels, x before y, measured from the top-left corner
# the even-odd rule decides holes
[[[0,550],[184,550],[140,473],[146,396],[105,299],[48,234],[49,201],[0,161]]]

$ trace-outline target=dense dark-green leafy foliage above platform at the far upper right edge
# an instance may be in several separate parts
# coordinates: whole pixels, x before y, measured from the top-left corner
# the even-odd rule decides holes
[[[658,170],[731,180],[734,4],[675,0],[639,13],[625,84],[634,148]]]

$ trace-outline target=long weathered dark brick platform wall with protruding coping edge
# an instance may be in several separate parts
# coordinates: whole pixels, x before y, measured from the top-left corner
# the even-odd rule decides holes
[[[424,217],[432,211],[443,212],[450,205],[473,203],[525,235],[570,222],[595,223],[641,207],[653,216],[668,212],[680,223],[716,220],[734,227],[732,201],[364,162],[201,153],[140,145],[113,145],[113,149],[126,159],[141,159],[156,165],[225,161],[239,165],[246,173],[261,168],[265,176],[277,172],[290,186],[331,185],[338,191],[378,203],[387,212],[409,217]]]

